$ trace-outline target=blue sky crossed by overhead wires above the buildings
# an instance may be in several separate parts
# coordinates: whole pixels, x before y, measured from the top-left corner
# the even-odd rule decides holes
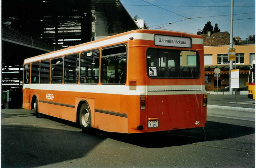
[[[144,19],[148,27],[153,28],[156,27],[155,25],[163,24],[168,26],[161,27],[161,29],[196,34],[198,29],[203,29],[205,23],[210,21],[213,28],[215,23],[217,23],[221,32],[228,31],[230,33],[231,0],[120,0],[120,2],[124,5],[132,18],[134,18],[135,15],[138,15],[138,19]],[[193,17],[201,18],[186,19]],[[174,23],[169,25],[169,22]],[[239,36],[242,40],[245,40],[247,33],[249,33],[249,35],[255,34],[255,0],[234,0],[233,24],[233,37]]]

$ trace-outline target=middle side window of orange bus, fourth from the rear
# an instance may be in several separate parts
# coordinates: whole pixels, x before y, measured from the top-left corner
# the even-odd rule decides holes
[[[63,58],[51,60],[51,83],[61,84],[63,79]]]

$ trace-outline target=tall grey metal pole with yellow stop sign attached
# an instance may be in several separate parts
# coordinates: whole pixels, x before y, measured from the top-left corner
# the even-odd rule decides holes
[[[233,9],[234,1],[231,0],[231,20],[230,20],[230,49],[233,48]],[[236,56],[235,56],[236,61]],[[233,69],[233,61],[229,61],[229,94],[233,95],[233,88],[231,88],[231,69]]]

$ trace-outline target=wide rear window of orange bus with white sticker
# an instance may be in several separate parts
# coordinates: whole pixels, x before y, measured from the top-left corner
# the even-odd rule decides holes
[[[199,54],[195,51],[149,48],[147,74],[150,78],[197,79],[200,77]]]

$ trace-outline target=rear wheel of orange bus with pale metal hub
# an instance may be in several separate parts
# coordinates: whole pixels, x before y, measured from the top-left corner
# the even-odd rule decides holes
[[[79,123],[84,133],[91,133],[91,111],[85,103],[80,108]]]

